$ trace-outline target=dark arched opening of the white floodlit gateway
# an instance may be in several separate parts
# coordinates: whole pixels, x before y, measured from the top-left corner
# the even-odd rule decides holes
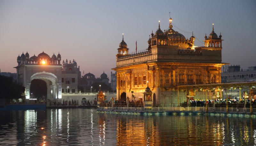
[[[47,86],[44,80],[34,79],[30,85],[30,99],[37,99],[38,102],[46,101]]]

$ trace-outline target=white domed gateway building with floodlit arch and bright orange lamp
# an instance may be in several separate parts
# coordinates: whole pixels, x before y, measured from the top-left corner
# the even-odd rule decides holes
[[[54,53],[50,57],[45,52],[29,57],[28,52],[17,57],[17,82],[25,88],[26,99],[31,97],[31,81],[34,79],[44,80],[47,86],[47,99],[62,98],[61,93],[77,93],[77,86],[81,78],[79,66],[76,61],[63,60],[60,64],[60,53]]]

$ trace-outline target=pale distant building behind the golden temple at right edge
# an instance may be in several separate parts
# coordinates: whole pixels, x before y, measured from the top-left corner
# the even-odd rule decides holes
[[[223,72],[221,73],[222,83],[249,80],[256,80],[256,66],[248,67],[247,70],[241,69],[241,71],[240,65],[223,66]]]

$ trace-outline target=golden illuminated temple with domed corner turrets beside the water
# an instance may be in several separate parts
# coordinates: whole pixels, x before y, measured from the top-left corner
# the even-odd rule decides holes
[[[113,68],[117,100],[125,100],[127,96],[130,100],[144,100],[143,92],[148,86],[153,93],[154,106],[180,103],[186,96],[185,91],[177,91],[179,85],[220,83],[221,66],[224,65],[221,62],[222,36],[218,37],[213,27],[202,47],[194,46],[193,33],[186,39],[174,31],[172,18],[168,30],[162,31],[159,22],[157,31],[150,36],[145,52],[129,54],[124,37],[119,44],[116,68]],[[197,99],[203,94],[197,93]]]

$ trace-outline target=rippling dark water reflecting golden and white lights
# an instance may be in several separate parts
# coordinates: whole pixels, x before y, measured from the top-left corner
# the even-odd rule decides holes
[[[255,145],[253,117],[1,111],[0,145]]]

